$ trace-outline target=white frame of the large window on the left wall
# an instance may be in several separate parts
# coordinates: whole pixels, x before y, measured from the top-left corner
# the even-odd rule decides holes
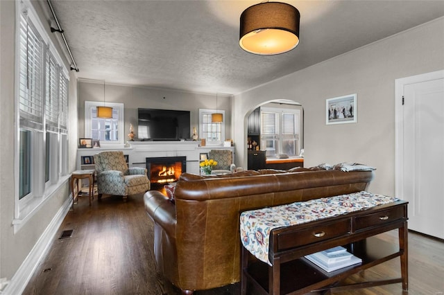
[[[40,21],[37,12],[35,11],[33,4],[31,1],[28,0],[22,0],[17,1],[17,8],[16,8],[16,32],[15,32],[15,44],[18,44],[16,46],[15,51],[15,69],[16,69],[16,77],[15,77],[15,210],[14,210],[14,220],[12,220],[12,224],[14,226],[14,232],[17,233],[19,229],[22,228],[26,222],[31,220],[31,217],[38,212],[38,208],[44,204],[46,199],[51,198],[56,190],[60,188],[63,184],[65,184],[69,176],[60,177],[60,161],[67,161],[68,155],[65,153],[64,157],[59,157],[60,155],[60,146],[62,143],[60,142],[59,134],[56,132],[58,129],[53,129],[53,133],[51,134],[51,146],[49,147],[50,152],[50,159],[49,159],[49,181],[45,184],[45,134],[46,134],[46,126],[45,126],[45,108],[43,102],[43,108],[42,108],[42,123],[41,126],[39,124],[33,125],[33,124],[27,124],[27,125],[21,125],[20,122],[20,62],[21,62],[21,39],[20,39],[20,28],[21,28],[21,21],[22,21],[22,15],[25,16],[26,20],[32,24],[33,28],[35,29],[35,33],[37,33],[40,39],[40,42],[42,42],[42,55],[40,56],[40,62],[42,63],[42,69],[41,69],[41,79],[38,81],[40,86],[40,95],[42,96],[42,100],[45,100],[45,84],[46,84],[46,53],[49,51],[52,55],[52,57],[56,60],[56,63],[58,64],[58,76],[64,76],[66,80],[69,80],[69,72],[68,69],[65,66],[65,62],[63,62],[62,58],[60,57],[58,51],[56,50],[56,46],[51,41],[51,38],[46,33],[46,30],[44,29],[44,25]],[[28,73],[26,74],[28,75]],[[56,78],[59,80],[59,78]],[[58,87],[58,85],[57,85]],[[55,125],[53,127],[56,127]],[[58,127],[58,126],[57,126]],[[28,195],[25,195],[20,199],[19,197],[19,173],[20,173],[20,163],[19,163],[19,138],[20,138],[20,130],[21,129],[28,129],[31,132],[31,193]],[[65,130],[67,132],[67,130]],[[67,136],[65,136],[65,140],[67,141]],[[64,144],[67,145],[67,142]]]

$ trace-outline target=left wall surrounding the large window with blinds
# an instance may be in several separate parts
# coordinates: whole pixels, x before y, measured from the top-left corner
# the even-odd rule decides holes
[[[15,4],[17,1],[0,1],[0,278],[10,280],[26,260],[29,253],[51,224],[69,197],[68,181],[52,197],[47,199],[35,214],[14,233],[12,220],[15,211]],[[42,2],[43,3],[43,2]],[[35,9],[51,38],[49,21],[39,2],[33,1]],[[46,5],[46,2],[43,3]],[[53,44],[58,44],[53,38]],[[60,48],[59,52],[60,52]],[[62,55],[62,54],[60,54]],[[63,55],[62,55],[63,56]],[[67,64],[68,68],[69,65]],[[70,73],[69,82],[69,141],[77,137],[76,129],[76,76]],[[74,136],[73,136],[74,134]],[[75,168],[76,145],[69,146],[69,171]],[[51,242],[51,241],[48,241]]]

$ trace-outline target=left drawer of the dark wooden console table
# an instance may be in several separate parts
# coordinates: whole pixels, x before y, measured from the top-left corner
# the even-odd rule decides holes
[[[288,231],[287,229],[287,231],[278,234],[278,244],[275,245],[275,247],[277,247],[275,251],[282,251],[284,249],[299,247],[348,234],[350,234],[350,218],[299,231]]]

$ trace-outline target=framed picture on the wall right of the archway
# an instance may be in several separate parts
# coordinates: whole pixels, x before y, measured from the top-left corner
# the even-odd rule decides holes
[[[357,123],[357,93],[325,100],[325,124]]]

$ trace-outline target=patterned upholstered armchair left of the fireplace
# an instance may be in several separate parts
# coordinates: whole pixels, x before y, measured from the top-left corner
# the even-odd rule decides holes
[[[150,189],[146,168],[128,168],[123,152],[94,154],[94,163],[99,199],[103,194],[121,195],[126,199],[128,195],[145,193]]]

